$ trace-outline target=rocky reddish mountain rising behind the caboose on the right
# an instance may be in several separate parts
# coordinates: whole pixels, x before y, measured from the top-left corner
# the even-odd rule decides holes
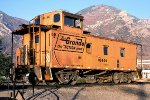
[[[150,58],[150,19],[139,19],[106,5],[91,6],[78,14],[84,16],[85,30],[91,34],[142,44],[144,58]]]

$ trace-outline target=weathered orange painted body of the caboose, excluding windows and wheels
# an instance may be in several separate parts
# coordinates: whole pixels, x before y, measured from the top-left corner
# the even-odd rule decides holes
[[[60,14],[60,21],[54,22],[54,15]],[[40,24],[57,25],[59,28],[52,28],[47,32],[33,32],[33,49],[35,50],[35,66],[45,67],[45,79],[52,79],[48,68],[72,68],[72,69],[96,69],[96,70],[136,70],[136,48],[134,43],[117,41],[107,38],[100,38],[89,34],[83,34],[83,22],[81,27],[69,27],[64,25],[64,17],[80,18],[79,15],[68,14],[63,11],[54,11],[40,15]],[[33,20],[35,20],[35,17]],[[81,17],[81,20],[82,17]],[[30,26],[31,28],[36,25]],[[38,35],[38,43],[35,43],[35,37]],[[22,45],[30,47],[29,32],[23,35]],[[46,40],[46,41],[45,41]],[[45,42],[46,42],[46,60],[45,60]],[[90,44],[91,49],[86,45]],[[104,55],[103,47],[108,47],[108,55]],[[120,49],[124,48],[124,57],[120,56]],[[18,65],[21,63],[21,50],[17,49],[16,56]],[[29,50],[28,50],[29,52]],[[29,57],[28,57],[29,58]],[[28,59],[28,65],[30,65]],[[46,62],[45,62],[46,61]],[[118,65],[117,65],[118,63]]]

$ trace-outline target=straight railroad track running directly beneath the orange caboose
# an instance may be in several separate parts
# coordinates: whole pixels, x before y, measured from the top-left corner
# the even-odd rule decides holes
[[[114,84],[114,83],[78,83],[76,85],[52,85],[52,86],[48,86],[44,83],[40,83],[39,85],[34,86],[35,89],[48,89],[48,88],[61,88],[61,87],[92,87],[92,86],[124,86],[124,85],[143,85],[143,84],[150,84],[150,82],[134,82],[134,83],[120,83],[120,84]],[[21,83],[17,83],[15,86],[16,89],[32,89],[33,86],[29,85],[29,84],[21,84]],[[4,84],[4,85],[0,85],[0,91],[2,90],[13,90],[13,84],[10,83],[8,84]]]

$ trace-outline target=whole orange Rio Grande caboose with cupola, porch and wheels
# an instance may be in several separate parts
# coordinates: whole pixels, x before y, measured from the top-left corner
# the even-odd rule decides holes
[[[22,35],[16,50],[16,80],[75,84],[79,77],[98,83],[130,83],[137,77],[137,44],[91,35],[83,16],[53,11],[36,16],[13,32]]]

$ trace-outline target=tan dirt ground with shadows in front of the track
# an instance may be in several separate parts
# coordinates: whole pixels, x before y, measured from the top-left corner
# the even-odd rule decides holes
[[[97,85],[25,90],[27,100],[150,100],[150,84]]]

